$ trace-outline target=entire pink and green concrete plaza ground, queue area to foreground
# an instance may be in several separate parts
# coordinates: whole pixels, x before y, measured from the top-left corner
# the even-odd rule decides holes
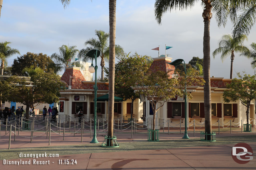
[[[40,125],[39,127],[40,128]],[[52,128],[56,131],[56,127]],[[203,129],[201,129],[203,130]],[[160,130],[162,132],[162,130]],[[71,130],[71,132],[73,132]],[[99,143],[90,143],[90,133],[81,132],[65,136],[54,132],[51,133],[51,144],[49,138],[43,131],[35,131],[30,143],[30,132],[19,132],[14,141],[14,134],[11,136],[11,145],[8,149],[9,134],[1,129],[0,138],[0,170],[2,169],[255,169],[256,167],[256,132],[243,132],[240,129],[233,129],[230,132],[216,133],[216,142],[200,141],[200,133],[189,131],[190,139],[182,139],[179,131],[168,130],[160,133],[159,142],[148,142],[145,130],[137,130],[131,136],[131,130],[117,133],[119,148],[102,148],[101,142],[106,133],[99,133]],[[63,131],[61,131],[61,134]],[[17,134],[17,132],[16,132]],[[5,136],[3,136],[5,135]],[[248,143],[254,151],[254,159],[247,164],[239,164],[233,161],[231,156],[232,147],[240,142]],[[59,154],[59,157],[20,158],[19,154]],[[33,161],[49,161],[49,165],[33,164]],[[31,161],[30,165],[6,165],[8,161]],[[62,160],[62,161],[60,161]],[[73,164],[64,164],[65,160]],[[41,162],[41,163],[42,163]],[[62,164],[59,164],[62,162]],[[40,163],[40,162],[38,162]],[[44,162],[45,163],[45,162]]]

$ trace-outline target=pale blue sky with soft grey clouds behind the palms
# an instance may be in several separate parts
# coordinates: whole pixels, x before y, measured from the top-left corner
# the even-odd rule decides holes
[[[196,4],[185,11],[168,11],[159,25],[154,17],[154,0],[117,0],[116,3],[116,44],[126,53],[158,56],[151,50],[160,45],[160,55],[165,54],[165,44],[172,46],[166,51],[169,57],[184,59],[188,63],[193,56],[203,58],[204,22],[203,8]],[[0,41],[12,42],[20,54],[43,53],[51,56],[59,47],[76,45],[80,50],[84,42],[95,37],[95,30],[109,32],[109,4],[107,0],[72,0],[64,9],[58,0],[4,0],[0,18]],[[231,34],[232,24],[218,28],[213,17],[210,24],[210,53],[217,48],[223,34]],[[256,29],[252,28],[248,41],[250,48],[256,42]],[[8,59],[8,66],[17,58]],[[117,60],[116,60],[117,61]],[[210,76],[230,77],[230,57],[223,62],[220,55],[211,55]],[[99,63],[99,62],[98,62]],[[108,67],[108,63],[106,63]],[[233,77],[236,72],[254,74],[250,60],[235,54]],[[60,74],[63,74],[61,72]],[[98,69],[97,75],[101,75]]]

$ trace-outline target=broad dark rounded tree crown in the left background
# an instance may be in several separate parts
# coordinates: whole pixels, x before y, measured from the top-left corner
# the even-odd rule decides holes
[[[27,54],[14,59],[12,65],[12,74],[18,76],[28,76],[27,73],[23,72],[23,69],[30,66],[33,68],[40,67],[45,72],[49,72],[54,70],[54,68],[52,68],[53,64],[54,62],[49,56],[47,56],[47,54],[27,52]]]

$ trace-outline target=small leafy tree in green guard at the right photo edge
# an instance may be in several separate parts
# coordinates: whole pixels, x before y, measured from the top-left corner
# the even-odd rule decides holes
[[[249,124],[249,109],[252,100],[256,99],[256,74],[241,75],[237,73],[239,79],[232,79],[231,83],[227,84],[228,90],[223,93],[223,100],[226,103],[240,101],[246,109],[246,121]],[[241,112],[240,112],[241,113]],[[248,127],[248,126],[247,126]],[[248,130],[248,129],[247,129]],[[249,130],[248,130],[249,131]]]

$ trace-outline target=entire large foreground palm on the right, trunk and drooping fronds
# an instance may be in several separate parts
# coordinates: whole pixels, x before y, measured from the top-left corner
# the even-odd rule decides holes
[[[227,17],[235,18],[236,12],[241,7],[244,7],[251,1],[247,0],[156,0],[155,1],[155,19],[158,24],[161,24],[162,16],[167,11],[173,9],[186,10],[192,8],[197,2],[201,2],[204,7],[202,17],[204,19],[204,38],[203,38],[203,53],[204,53],[204,108],[205,108],[205,132],[211,133],[211,85],[210,85],[210,20],[212,11],[216,14],[218,26],[225,26]],[[232,20],[234,22],[234,20]]]

